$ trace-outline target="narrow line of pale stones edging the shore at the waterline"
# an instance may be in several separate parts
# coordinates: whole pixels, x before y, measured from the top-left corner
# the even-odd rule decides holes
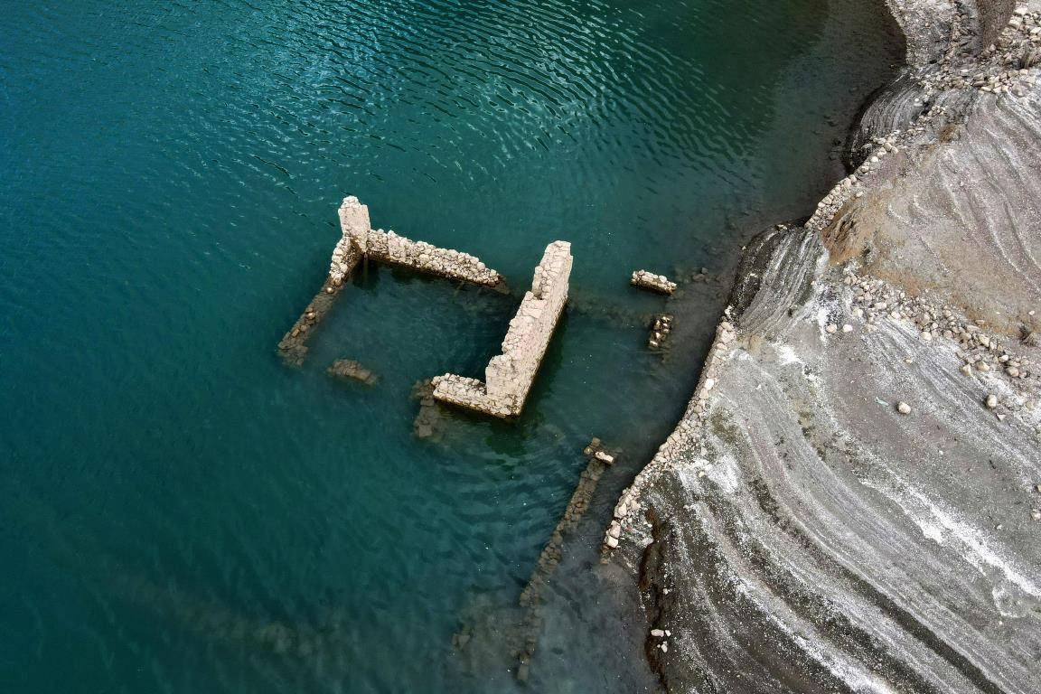
[[[618,546],[621,540],[623,533],[633,529],[633,522],[640,509],[641,490],[650,486],[661,472],[667,469],[671,465],[671,461],[685,460],[690,457],[690,451],[693,449],[705,423],[708,410],[707,401],[716,385],[716,376],[723,362],[730,358],[734,341],[737,338],[737,332],[729,319],[730,313],[731,309],[728,307],[725,311],[725,319],[716,328],[715,339],[705,358],[701,379],[683,419],[665,439],[665,442],[659,446],[654,460],[640,470],[633,484],[621,492],[621,496],[614,507],[614,519],[604,535],[602,561],[609,561],[611,551]]]

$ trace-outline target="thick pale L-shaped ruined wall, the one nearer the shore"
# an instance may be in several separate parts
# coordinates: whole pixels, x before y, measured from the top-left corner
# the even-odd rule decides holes
[[[525,293],[510,320],[503,353],[488,362],[484,382],[454,374],[438,376],[433,379],[435,399],[497,417],[520,413],[567,302],[572,260],[572,245],[567,241],[545,247],[535,267],[531,291]]]

